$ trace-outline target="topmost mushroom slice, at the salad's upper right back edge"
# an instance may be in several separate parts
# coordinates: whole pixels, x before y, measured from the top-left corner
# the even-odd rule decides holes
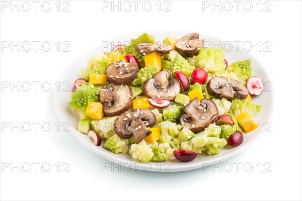
[[[204,39],[199,39],[199,34],[191,33],[178,39],[175,44],[175,49],[183,57],[192,57],[198,54],[198,47],[203,47]]]

